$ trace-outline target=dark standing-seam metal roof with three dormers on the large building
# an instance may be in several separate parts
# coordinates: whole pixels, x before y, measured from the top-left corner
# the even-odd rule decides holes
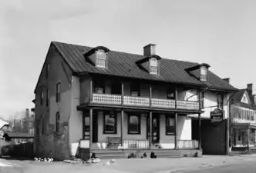
[[[52,42],[59,51],[62,58],[76,74],[94,73],[103,75],[113,75],[127,78],[139,78],[152,81],[172,82],[187,85],[198,85],[201,87],[214,88],[225,91],[237,91],[237,88],[229,85],[227,82],[208,72],[208,81],[200,82],[197,78],[186,72],[186,68],[199,65],[195,62],[184,62],[162,58],[160,60],[160,75],[151,75],[143,71],[136,64],[139,60],[146,58],[143,55],[135,55],[124,52],[108,52],[108,68],[96,68],[89,62],[86,62],[84,54],[93,48],[83,45],[72,45],[62,42]]]

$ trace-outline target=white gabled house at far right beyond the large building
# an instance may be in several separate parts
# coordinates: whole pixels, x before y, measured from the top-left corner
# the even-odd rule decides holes
[[[256,148],[256,105],[253,85],[237,91],[231,98],[231,150],[251,151]]]

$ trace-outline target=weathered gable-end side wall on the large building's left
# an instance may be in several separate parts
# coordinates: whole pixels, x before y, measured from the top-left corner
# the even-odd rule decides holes
[[[45,65],[49,64],[49,77],[45,78]],[[35,151],[39,157],[69,158],[68,120],[71,109],[71,71],[56,48],[49,48],[39,87],[35,91]],[[56,84],[61,82],[60,102],[56,102]],[[49,88],[49,106],[46,91]],[[43,105],[40,92],[44,92]],[[60,131],[56,132],[56,112],[60,112]],[[42,128],[44,129],[42,133]]]

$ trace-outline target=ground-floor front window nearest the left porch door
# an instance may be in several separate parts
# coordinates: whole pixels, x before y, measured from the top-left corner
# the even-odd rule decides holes
[[[113,112],[104,113],[104,134],[116,134],[116,114]]]

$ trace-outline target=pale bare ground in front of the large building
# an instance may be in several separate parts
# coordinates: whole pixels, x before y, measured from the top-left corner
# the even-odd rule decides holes
[[[106,165],[106,161],[102,160],[95,164],[83,163],[63,163],[61,161],[54,162],[35,162],[21,161],[15,159],[0,159],[0,162],[12,165],[12,167],[2,167],[2,172],[12,173],[45,173],[45,172],[62,172],[62,173],[110,173],[110,172],[158,172],[170,173],[171,171],[187,171],[198,170],[203,168],[214,168],[223,165],[235,165],[243,161],[254,161],[256,155],[248,156],[204,156],[203,158],[132,158],[117,159],[113,165]]]

